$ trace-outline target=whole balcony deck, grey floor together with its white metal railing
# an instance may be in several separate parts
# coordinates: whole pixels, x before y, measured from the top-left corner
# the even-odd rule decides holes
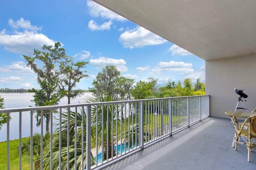
[[[234,127],[230,125],[229,119],[208,118],[209,96],[190,96],[1,109],[0,113],[12,113],[20,118],[20,168],[22,123],[30,123],[30,136],[33,136],[32,119],[35,111],[40,112],[41,116],[49,113],[51,121],[49,139],[41,135],[39,155],[30,150],[32,168],[35,162],[39,162],[37,165],[41,169],[84,167],[87,170],[170,167],[240,169],[256,164],[255,152],[251,155],[251,162],[247,163],[246,148],[239,146],[235,151],[231,147]],[[22,116],[26,114],[30,114],[30,120],[22,122]],[[42,121],[41,134],[45,134],[44,127]],[[8,123],[8,170],[10,133]],[[33,137],[30,138],[30,148],[35,147],[32,141]]]

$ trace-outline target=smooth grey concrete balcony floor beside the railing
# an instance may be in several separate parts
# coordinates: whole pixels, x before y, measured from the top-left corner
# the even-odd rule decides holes
[[[234,126],[230,122],[230,119],[209,117],[122,160],[113,161],[105,169],[255,170],[256,149],[247,162],[245,145],[238,144],[237,150],[231,147]]]

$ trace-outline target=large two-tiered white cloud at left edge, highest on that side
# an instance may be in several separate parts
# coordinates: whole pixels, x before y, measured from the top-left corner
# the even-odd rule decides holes
[[[46,35],[37,33],[36,31],[40,30],[41,27],[31,25],[28,20],[25,21],[22,18],[14,22],[10,19],[9,24],[14,28],[12,33],[6,33],[6,29],[0,32],[0,45],[2,45],[6,51],[22,55],[33,55],[34,49],[41,49],[43,45],[54,45],[55,43]],[[25,30],[18,31],[19,28]]]

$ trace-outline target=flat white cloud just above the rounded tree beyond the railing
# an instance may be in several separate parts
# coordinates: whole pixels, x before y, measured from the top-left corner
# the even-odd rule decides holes
[[[128,70],[124,64],[126,64],[126,61],[123,59],[110,59],[106,57],[100,57],[98,59],[91,59],[90,64],[96,66],[97,69],[101,69],[105,67],[106,65],[114,65],[116,66],[118,71],[125,72]]]

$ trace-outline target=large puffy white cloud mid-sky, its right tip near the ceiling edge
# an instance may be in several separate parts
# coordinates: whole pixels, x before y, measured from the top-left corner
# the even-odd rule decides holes
[[[144,47],[146,45],[159,45],[166,43],[167,40],[148,31],[143,27],[128,30],[122,33],[119,41],[127,48]]]

